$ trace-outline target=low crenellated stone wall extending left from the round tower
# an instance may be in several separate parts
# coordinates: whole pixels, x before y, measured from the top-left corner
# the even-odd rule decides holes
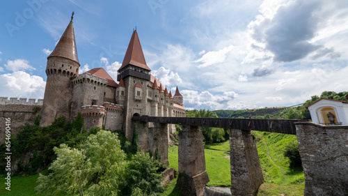
[[[26,98],[0,98],[0,144],[5,142],[5,123],[10,118],[11,137],[17,135],[20,126],[25,123],[33,124],[36,116],[42,107],[42,100],[35,102],[35,99]]]

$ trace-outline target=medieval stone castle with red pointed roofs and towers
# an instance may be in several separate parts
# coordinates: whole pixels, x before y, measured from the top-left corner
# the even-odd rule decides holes
[[[172,96],[171,91],[150,74],[136,30],[118,69],[118,83],[103,68],[93,68],[79,75],[72,20],[47,57],[43,101],[29,100],[32,105],[42,105],[40,126],[50,125],[58,116],[72,121],[81,112],[86,130],[102,126],[110,130],[122,129],[130,140],[132,116],[185,116],[179,90]],[[1,97],[0,102],[3,106],[30,105],[26,98],[7,100]],[[168,127],[168,131],[174,130],[174,126]]]

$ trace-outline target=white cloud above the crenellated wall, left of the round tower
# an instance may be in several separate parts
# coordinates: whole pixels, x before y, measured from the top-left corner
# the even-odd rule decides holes
[[[15,71],[0,75],[0,94],[8,97],[43,98],[46,82],[37,75]]]

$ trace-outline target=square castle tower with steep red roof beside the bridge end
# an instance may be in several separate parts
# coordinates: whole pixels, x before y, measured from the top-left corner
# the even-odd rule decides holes
[[[150,68],[146,65],[138,33],[133,31],[117,80],[125,84],[123,130],[128,140],[132,139],[132,116],[148,114],[148,81]]]

